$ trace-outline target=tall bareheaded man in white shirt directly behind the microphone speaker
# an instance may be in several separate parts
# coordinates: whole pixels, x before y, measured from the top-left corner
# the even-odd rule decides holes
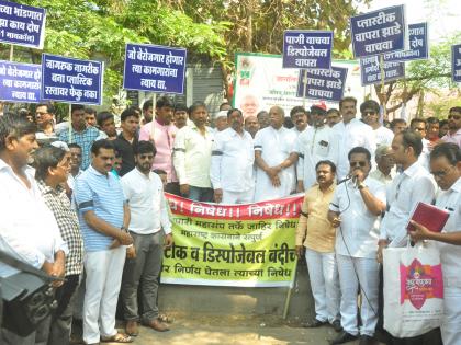
[[[355,147],[363,147],[374,157],[376,141],[373,129],[356,118],[357,100],[355,97],[344,97],[339,101],[339,111],[342,122],[336,124],[335,138],[338,146],[337,179],[342,180],[349,172],[348,153]]]

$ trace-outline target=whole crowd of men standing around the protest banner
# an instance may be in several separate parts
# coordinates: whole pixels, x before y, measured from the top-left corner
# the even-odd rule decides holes
[[[2,343],[68,344],[79,307],[86,344],[131,343],[139,322],[168,331],[157,306],[164,249],[173,243],[168,192],[226,205],[305,193],[296,253],[307,263],[315,318],[304,325],[330,324],[339,332],[331,344],[373,344],[385,333],[383,249],[437,241],[447,281],[441,332],[384,335],[389,344],[441,344],[441,333],[443,344],[460,344],[461,107],[445,123],[414,118],[408,128],[383,122],[374,101],[359,110],[356,118],[357,100],[347,96],[339,110],[319,102],[289,116],[272,106],[244,117],[223,103],[210,116],[203,102],[160,96],[124,110],[120,127],[112,113],[79,104],[58,124],[49,103],[35,116],[3,114],[0,250],[66,279],[53,283],[53,314],[26,337],[2,329]],[[419,202],[450,210],[441,233],[418,223],[407,232]],[[14,273],[0,264],[0,276]]]

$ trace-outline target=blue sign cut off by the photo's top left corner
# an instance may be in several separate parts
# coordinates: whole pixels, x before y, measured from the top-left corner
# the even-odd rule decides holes
[[[44,9],[0,0],[0,42],[42,49],[45,20]]]

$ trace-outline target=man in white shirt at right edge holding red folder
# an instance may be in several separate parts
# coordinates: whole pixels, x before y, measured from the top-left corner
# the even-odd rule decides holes
[[[436,206],[450,216],[441,232],[414,222],[411,235],[415,241],[438,241],[443,273],[441,337],[445,345],[457,345],[461,340],[461,149],[452,142],[437,145],[430,153],[430,171],[441,189]]]

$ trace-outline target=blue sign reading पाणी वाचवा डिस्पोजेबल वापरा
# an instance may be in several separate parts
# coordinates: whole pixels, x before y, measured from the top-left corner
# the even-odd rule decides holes
[[[283,68],[330,69],[333,32],[288,30],[283,33]]]

